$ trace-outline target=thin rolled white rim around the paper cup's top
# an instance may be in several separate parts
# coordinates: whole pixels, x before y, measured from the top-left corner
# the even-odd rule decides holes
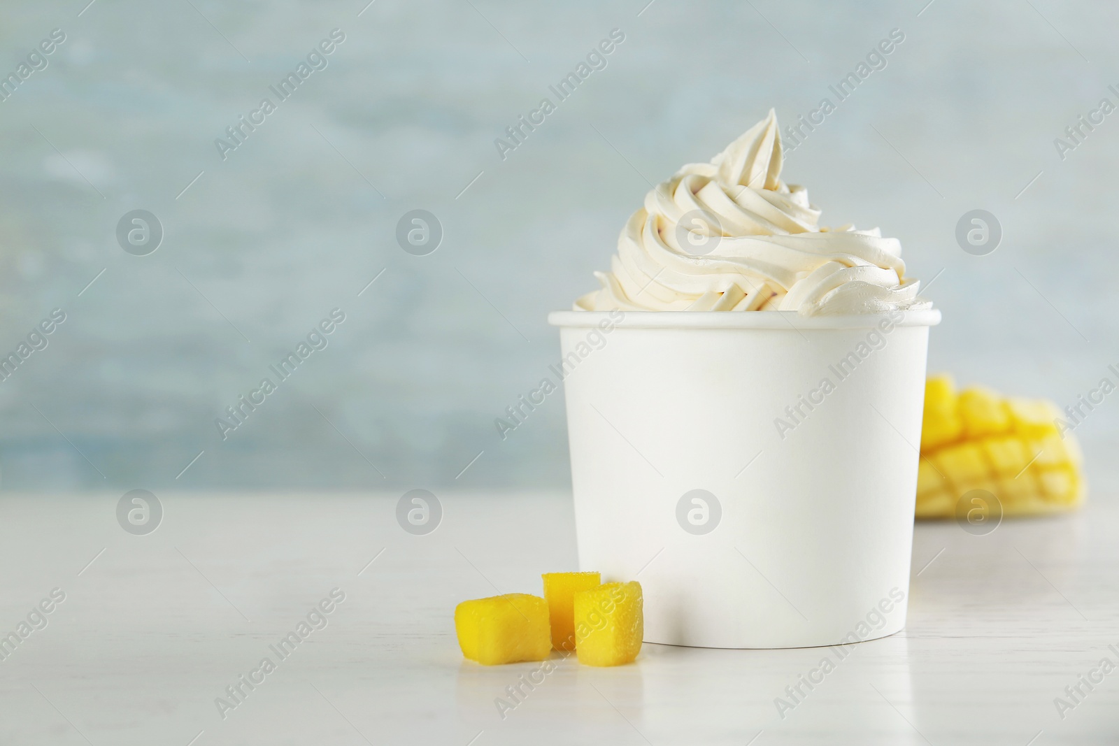
[[[940,323],[939,309],[902,311],[900,321],[897,312],[802,317],[796,311],[624,311],[621,319],[611,313],[617,311],[553,311],[548,323],[591,328],[605,321],[626,329],[871,329],[883,320],[895,327]]]

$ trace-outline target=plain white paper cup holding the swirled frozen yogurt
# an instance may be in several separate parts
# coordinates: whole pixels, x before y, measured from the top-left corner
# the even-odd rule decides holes
[[[640,580],[647,642],[800,648],[905,625],[940,311],[548,321],[580,566]]]

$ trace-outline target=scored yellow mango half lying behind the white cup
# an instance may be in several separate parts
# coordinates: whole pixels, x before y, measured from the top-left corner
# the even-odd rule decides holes
[[[950,376],[924,388],[916,517],[951,518],[970,490],[998,498],[1004,516],[1076,508],[1084,499],[1083,457],[1063,432],[1056,406],[1004,397],[979,386],[957,393]]]

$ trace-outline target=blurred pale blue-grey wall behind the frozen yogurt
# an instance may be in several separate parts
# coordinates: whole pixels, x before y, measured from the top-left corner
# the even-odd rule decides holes
[[[505,442],[492,423],[557,358],[546,313],[592,289],[645,178],[770,106],[807,113],[893,28],[787,180],[943,271],[933,369],[1063,404],[1119,361],[1119,114],[1063,161],[1053,145],[1119,103],[1119,9],[646,1],[7,3],[0,70],[67,38],[0,103],[0,350],[67,320],[0,383],[4,487],[565,484],[560,397]],[[223,161],[215,138],[333,28],[329,66]],[[495,138],[613,28],[608,67],[502,161]],[[114,236],[137,208],[166,229],[149,256]],[[415,208],[445,232],[429,256],[394,237]],[[974,208],[1004,226],[989,256],[956,244]],[[222,441],[215,417],[333,308],[329,347]],[[1115,399],[1078,431],[1098,488]]]

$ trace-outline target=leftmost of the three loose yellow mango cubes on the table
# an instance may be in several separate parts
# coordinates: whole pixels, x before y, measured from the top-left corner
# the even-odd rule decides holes
[[[543,661],[552,652],[548,604],[527,593],[463,601],[454,631],[462,654],[483,665]]]

